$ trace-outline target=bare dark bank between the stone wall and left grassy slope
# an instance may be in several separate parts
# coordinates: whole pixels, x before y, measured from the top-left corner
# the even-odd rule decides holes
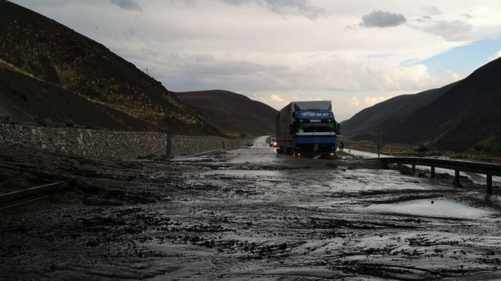
[[[59,124],[117,131],[148,131],[153,125],[104,105],[92,103],[63,88],[0,67],[0,116],[15,122],[49,118]],[[70,107],[70,110],[68,110]]]

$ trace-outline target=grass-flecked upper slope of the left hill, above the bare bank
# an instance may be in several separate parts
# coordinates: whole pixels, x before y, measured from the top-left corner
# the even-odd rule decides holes
[[[41,14],[0,1],[0,38],[3,65],[22,74],[124,112],[155,131],[221,134],[135,65]]]

